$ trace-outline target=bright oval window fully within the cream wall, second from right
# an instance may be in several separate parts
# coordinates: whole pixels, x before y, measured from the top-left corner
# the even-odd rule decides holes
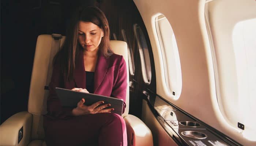
[[[162,52],[166,87],[174,99],[178,99],[181,94],[182,78],[175,35],[172,26],[164,15],[155,18],[155,25]]]

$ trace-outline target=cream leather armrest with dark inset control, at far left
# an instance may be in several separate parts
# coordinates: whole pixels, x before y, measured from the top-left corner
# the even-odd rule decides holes
[[[23,111],[12,115],[0,125],[0,146],[27,146],[31,138],[32,114]],[[18,144],[18,133],[23,127],[23,138]]]

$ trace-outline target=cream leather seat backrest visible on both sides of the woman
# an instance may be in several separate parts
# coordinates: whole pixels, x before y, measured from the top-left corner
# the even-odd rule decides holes
[[[54,55],[63,45],[64,36],[59,34],[39,35],[35,49],[34,64],[30,82],[28,112],[33,114],[32,139],[43,139],[42,115],[46,114],[46,101],[49,91],[46,90],[52,76],[52,61]],[[129,112],[129,73],[127,43],[110,41],[114,53],[123,55],[127,64],[127,96],[126,108],[122,116]]]

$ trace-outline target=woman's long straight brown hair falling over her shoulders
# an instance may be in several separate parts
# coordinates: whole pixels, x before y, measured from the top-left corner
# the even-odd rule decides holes
[[[83,48],[78,43],[79,21],[91,22],[103,30],[104,36],[99,44],[99,51],[108,58],[113,54],[109,42],[109,24],[105,14],[97,7],[79,8],[72,17],[71,24],[67,29],[67,37],[60,51],[53,59],[53,66],[59,65],[61,72],[67,80],[73,78],[75,63],[78,60],[79,52]],[[78,45],[79,44],[79,45]]]

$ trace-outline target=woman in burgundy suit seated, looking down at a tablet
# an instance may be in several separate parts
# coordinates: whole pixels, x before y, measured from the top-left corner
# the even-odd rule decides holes
[[[113,108],[98,101],[86,106],[61,107],[55,88],[90,92],[124,100],[127,72],[124,58],[114,54],[109,43],[109,25],[96,7],[78,11],[67,38],[53,61],[52,80],[44,116],[47,146],[125,146],[127,133],[124,119],[111,113]]]

